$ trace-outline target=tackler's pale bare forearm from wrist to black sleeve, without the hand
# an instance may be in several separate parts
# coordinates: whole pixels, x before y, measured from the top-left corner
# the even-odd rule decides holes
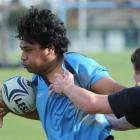
[[[98,95],[76,85],[64,90],[65,95],[79,108],[88,113],[111,113],[107,95]]]

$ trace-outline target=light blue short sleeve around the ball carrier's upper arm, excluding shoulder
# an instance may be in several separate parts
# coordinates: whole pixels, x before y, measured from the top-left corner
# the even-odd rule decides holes
[[[98,80],[109,77],[108,69],[94,60],[86,59],[78,65],[79,82],[84,88],[90,89]]]

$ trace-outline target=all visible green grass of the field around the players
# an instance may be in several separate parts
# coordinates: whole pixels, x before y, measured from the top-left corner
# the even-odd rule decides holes
[[[130,62],[131,51],[124,53],[96,53],[88,54],[100,64],[108,67],[111,76],[126,86],[134,85],[133,70]],[[31,77],[24,69],[0,69],[0,85],[15,75]],[[140,130],[113,131],[116,140],[139,140]],[[0,140],[45,140],[40,122],[8,114],[4,118],[4,126],[0,129]]]

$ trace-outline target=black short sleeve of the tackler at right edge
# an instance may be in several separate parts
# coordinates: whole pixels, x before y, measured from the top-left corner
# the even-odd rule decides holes
[[[117,118],[140,110],[140,87],[126,88],[108,96],[111,109]]]

